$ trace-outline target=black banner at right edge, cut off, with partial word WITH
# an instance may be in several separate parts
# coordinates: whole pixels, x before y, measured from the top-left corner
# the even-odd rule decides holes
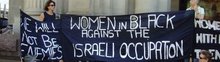
[[[211,20],[195,20],[196,44],[194,57],[199,58],[201,50],[208,50],[212,60],[220,61],[220,22]]]

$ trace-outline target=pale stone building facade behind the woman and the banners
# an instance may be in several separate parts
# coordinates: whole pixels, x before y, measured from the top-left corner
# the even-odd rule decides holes
[[[47,0],[9,0],[9,23],[19,33],[19,9],[38,19]],[[126,15],[178,10],[179,0],[53,0],[58,14]]]

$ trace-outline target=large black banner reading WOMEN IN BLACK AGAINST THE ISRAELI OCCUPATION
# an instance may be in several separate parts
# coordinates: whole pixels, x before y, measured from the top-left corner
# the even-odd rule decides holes
[[[122,16],[62,15],[67,61],[178,61],[194,41],[193,11]]]

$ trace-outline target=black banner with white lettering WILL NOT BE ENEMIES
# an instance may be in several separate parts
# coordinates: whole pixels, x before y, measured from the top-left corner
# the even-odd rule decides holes
[[[59,23],[39,22],[21,11],[22,57],[35,61],[62,59]]]

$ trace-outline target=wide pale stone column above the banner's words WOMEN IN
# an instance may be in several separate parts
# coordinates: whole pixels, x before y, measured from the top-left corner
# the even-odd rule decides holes
[[[124,15],[128,0],[68,0],[68,14]]]

